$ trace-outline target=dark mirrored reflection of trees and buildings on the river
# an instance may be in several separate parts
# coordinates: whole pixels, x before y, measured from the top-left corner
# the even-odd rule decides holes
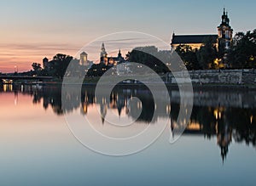
[[[177,127],[179,112],[177,90],[170,90],[172,100],[170,104],[155,105],[147,87],[139,89],[115,87],[110,98],[95,97],[94,87],[83,87],[82,100],[79,100],[78,88],[73,88],[72,93],[64,94],[64,99],[69,103],[66,108],[61,105],[61,86],[1,85],[0,90],[0,93],[14,93],[15,104],[19,104],[19,94],[29,94],[32,96],[33,104],[43,101],[44,110],[51,108],[56,115],[80,110],[80,113],[86,116],[89,110],[95,109],[91,105],[98,105],[102,115],[102,125],[109,110],[116,111],[119,116],[137,118],[137,111],[142,108],[137,123],[148,125],[155,111],[157,117],[153,123],[157,123],[157,119],[166,116],[167,113],[171,118],[170,130]],[[223,161],[228,155],[232,141],[253,145],[255,148],[256,97],[254,95],[252,91],[195,91],[192,115],[184,135],[202,135],[206,139],[216,140]],[[162,103],[165,103],[164,100],[168,96],[159,93]],[[131,101],[134,97],[141,102]]]

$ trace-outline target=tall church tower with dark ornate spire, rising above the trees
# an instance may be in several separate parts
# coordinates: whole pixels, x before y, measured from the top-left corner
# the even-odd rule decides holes
[[[230,48],[232,42],[233,29],[230,26],[228,12],[225,11],[221,17],[221,24],[218,26],[218,44],[223,44],[224,48]]]

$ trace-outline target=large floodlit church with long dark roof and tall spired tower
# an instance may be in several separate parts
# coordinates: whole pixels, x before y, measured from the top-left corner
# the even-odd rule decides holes
[[[218,25],[217,29],[218,34],[216,35],[176,35],[173,33],[171,46],[173,49],[177,48],[179,45],[189,45],[192,49],[201,48],[207,38],[210,37],[216,41],[217,48],[219,44],[223,44],[226,49],[230,48],[233,29],[230,26],[230,19],[225,8],[221,16],[221,23]]]

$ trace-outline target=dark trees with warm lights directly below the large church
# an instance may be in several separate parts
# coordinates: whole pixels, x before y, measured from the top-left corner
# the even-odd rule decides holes
[[[222,42],[216,45],[216,41],[207,38],[199,49],[180,45],[176,52],[188,70],[255,68],[256,30],[236,33],[230,48],[225,48]]]

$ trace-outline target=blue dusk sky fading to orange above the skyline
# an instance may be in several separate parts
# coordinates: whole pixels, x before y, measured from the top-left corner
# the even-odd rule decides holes
[[[85,44],[119,31],[140,31],[168,43],[173,31],[217,34],[224,7],[235,33],[256,28],[255,0],[3,0],[0,72],[31,70],[33,62],[58,53],[74,56]]]

